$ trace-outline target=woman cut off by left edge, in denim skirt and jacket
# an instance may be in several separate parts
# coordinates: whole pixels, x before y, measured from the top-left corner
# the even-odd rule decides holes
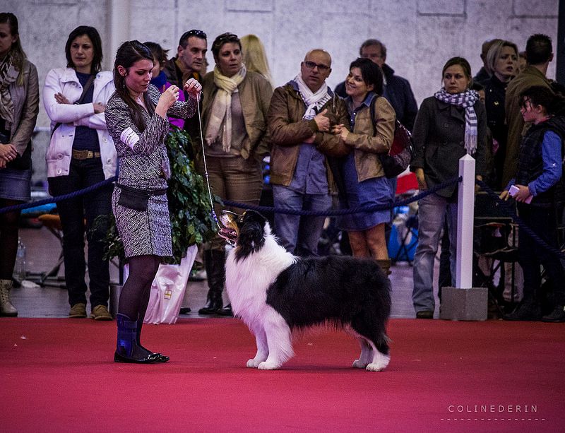
[[[0,209],[30,200],[31,135],[39,112],[35,66],[25,59],[18,18],[0,13]],[[0,213],[0,316],[17,316],[10,302],[20,210]],[[25,276],[25,275],[23,275]]]

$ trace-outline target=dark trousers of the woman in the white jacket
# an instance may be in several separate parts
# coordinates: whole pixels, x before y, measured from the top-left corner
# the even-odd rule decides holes
[[[70,194],[102,182],[104,172],[100,158],[71,160],[68,176],[49,177],[49,191],[52,196]],[[88,278],[90,279],[90,307],[107,307],[109,298],[109,268],[104,256],[104,238],[107,220],[93,228],[99,215],[112,214],[112,185],[96,189],[83,196],[57,202],[57,210],[63,226],[63,259],[65,283],[69,290],[69,304],[86,304],[86,263],[84,256],[84,235],[88,240]],[[85,224],[86,223],[86,224]]]

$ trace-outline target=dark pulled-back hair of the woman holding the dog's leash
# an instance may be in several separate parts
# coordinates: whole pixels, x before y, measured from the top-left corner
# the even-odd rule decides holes
[[[126,77],[120,75],[118,66],[124,67],[127,71],[127,75],[131,66],[136,63],[136,61],[143,59],[150,60],[151,63],[153,63],[153,54],[151,54],[150,49],[145,47],[145,45],[138,40],[129,40],[120,45],[116,53],[116,60],[114,61],[114,85],[116,86],[116,93],[128,105],[133,123],[136,124],[140,132],[145,131],[145,127],[147,126],[145,119],[143,119],[143,108],[140,107],[129,94],[129,90],[126,87]],[[143,93],[143,100],[145,101],[145,107],[147,107],[149,115],[153,116],[155,104],[153,104],[147,92]]]

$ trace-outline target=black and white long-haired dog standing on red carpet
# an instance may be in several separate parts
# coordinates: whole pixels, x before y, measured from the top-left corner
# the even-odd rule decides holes
[[[286,251],[254,210],[223,213],[220,236],[234,244],[226,261],[232,309],[254,334],[257,354],[247,367],[278,369],[293,355],[292,333],[331,324],[361,345],[353,367],[379,372],[390,361],[386,322],[390,281],[370,259],[299,258]]]

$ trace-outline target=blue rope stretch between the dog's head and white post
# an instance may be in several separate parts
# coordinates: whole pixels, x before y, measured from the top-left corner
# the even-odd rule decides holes
[[[231,200],[222,200],[222,204],[225,204],[227,206],[232,206],[234,208],[256,210],[257,212],[285,213],[287,215],[302,215],[302,216],[351,215],[353,213],[375,212],[377,210],[393,209],[396,208],[397,206],[406,206],[408,203],[412,203],[412,201],[420,200],[425,196],[434,194],[436,191],[439,191],[440,189],[444,189],[447,186],[450,186],[451,184],[456,184],[461,181],[463,181],[462,177],[454,177],[453,179],[449,179],[448,181],[442,184],[436,185],[430,189],[427,189],[426,191],[422,191],[420,194],[416,194],[415,196],[405,198],[404,200],[394,201],[392,205],[357,206],[355,208],[326,210],[324,212],[314,211],[314,210],[295,210],[288,208],[277,208],[271,206],[255,206],[249,203],[239,203],[237,201],[231,201]]]

